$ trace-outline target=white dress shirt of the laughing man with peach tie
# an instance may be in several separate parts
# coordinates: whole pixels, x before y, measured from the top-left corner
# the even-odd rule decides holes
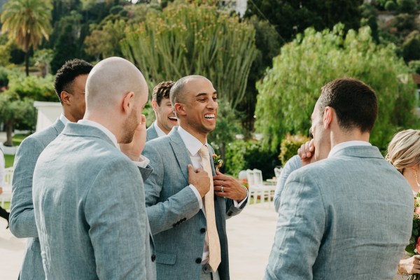
[[[187,147],[188,155],[190,155],[190,159],[191,159],[191,162],[193,162],[194,169],[197,169],[197,168],[203,169],[203,166],[201,164],[202,158],[201,158],[201,155],[199,153],[200,148],[202,148],[203,144],[197,138],[193,137],[193,135],[191,135],[189,132],[184,130],[181,126],[179,126],[179,128],[178,128],[178,133],[179,133],[179,136],[181,137],[183,143]],[[207,144],[207,140],[206,140],[205,145],[207,147],[209,147],[209,145]],[[197,188],[195,188],[195,186],[190,184],[189,187],[195,193],[195,196],[197,197],[197,200],[198,200],[198,204],[200,205],[200,209],[202,209],[202,211],[205,215],[206,211],[204,211],[203,200],[202,200],[202,197],[201,197],[200,193],[198,192]],[[248,197],[248,193],[246,194],[246,197]],[[236,200],[234,200],[233,203],[234,203],[235,207],[236,208],[241,207],[241,205],[246,201],[246,197],[240,203],[238,203]],[[207,239],[205,239],[204,240],[203,255],[202,255],[202,264],[206,264],[207,262],[209,262],[209,244],[207,243]]]

